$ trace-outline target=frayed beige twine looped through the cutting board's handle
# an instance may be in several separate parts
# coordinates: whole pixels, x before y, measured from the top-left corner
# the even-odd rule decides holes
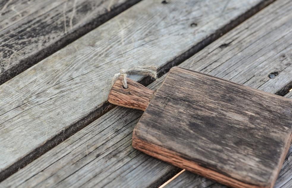
[[[113,77],[112,80],[112,85],[116,82],[116,80],[120,77],[123,76],[123,87],[125,89],[128,88],[127,84],[127,76],[128,74],[131,75],[145,75],[145,76],[151,76],[151,78],[157,79],[157,69],[159,67],[156,65],[150,65],[150,66],[145,66],[145,67],[136,67],[136,68],[130,68],[128,70],[121,69],[119,73],[116,73],[115,76]]]

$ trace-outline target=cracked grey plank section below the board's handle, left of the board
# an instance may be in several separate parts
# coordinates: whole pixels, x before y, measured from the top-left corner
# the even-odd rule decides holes
[[[166,181],[176,167],[132,148],[132,131],[141,115],[140,110],[115,107],[0,187],[147,187],[160,178]]]

